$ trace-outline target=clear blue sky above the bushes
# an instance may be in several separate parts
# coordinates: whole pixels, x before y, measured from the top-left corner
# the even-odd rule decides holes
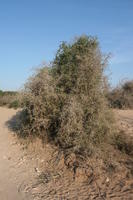
[[[0,0],[0,88],[19,89],[61,41],[81,34],[112,53],[113,86],[133,79],[133,0]]]

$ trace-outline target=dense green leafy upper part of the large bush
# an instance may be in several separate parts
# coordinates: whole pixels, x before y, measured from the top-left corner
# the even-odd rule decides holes
[[[97,47],[97,40],[87,36],[78,38],[75,43],[67,44],[63,42],[60,45],[52,69],[54,77],[58,79],[58,88],[62,89],[65,93],[74,91],[77,93],[75,86],[79,73],[83,72],[83,70],[88,70],[90,79],[91,73],[98,68],[96,66],[89,66],[88,69],[85,69],[85,66],[83,66],[87,65],[87,59],[91,62],[92,60],[94,61],[93,58],[95,56],[98,56],[96,55]],[[84,88],[82,89],[84,90]]]

